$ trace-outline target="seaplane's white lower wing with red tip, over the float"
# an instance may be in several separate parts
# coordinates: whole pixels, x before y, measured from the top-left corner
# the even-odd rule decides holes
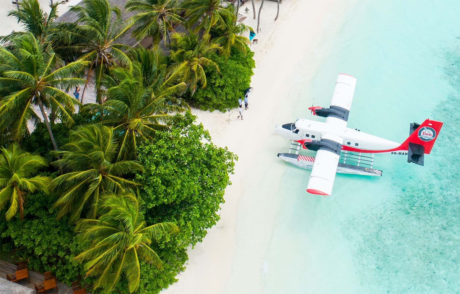
[[[307,192],[324,196],[331,195],[342,143],[343,139],[337,135],[325,133],[321,136],[321,145],[316,152]]]

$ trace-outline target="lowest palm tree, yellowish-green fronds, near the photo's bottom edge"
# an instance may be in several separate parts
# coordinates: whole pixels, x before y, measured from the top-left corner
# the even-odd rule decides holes
[[[89,241],[91,245],[75,260],[86,261],[86,277],[97,277],[94,288],[113,291],[124,273],[128,290],[132,293],[139,287],[139,260],[161,268],[160,257],[150,248],[152,238],[176,233],[179,229],[171,222],[147,226],[144,210],[131,192],[107,197],[100,210],[102,214],[98,220],[81,219],[77,222],[77,238]]]

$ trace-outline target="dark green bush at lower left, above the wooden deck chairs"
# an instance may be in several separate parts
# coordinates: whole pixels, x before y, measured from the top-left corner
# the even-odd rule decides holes
[[[52,271],[57,280],[70,284],[85,273],[73,261],[85,244],[76,242],[74,227],[67,218],[56,220],[56,212],[50,209],[55,200],[43,192],[28,194],[22,221],[16,215],[6,222],[2,211],[2,249],[15,248],[16,256],[29,258],[30,270]]]

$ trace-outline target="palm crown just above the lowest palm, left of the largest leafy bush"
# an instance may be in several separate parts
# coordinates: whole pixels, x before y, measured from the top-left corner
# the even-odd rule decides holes
[[[69,136],[62,159],[53,162],[64,172],[50,183],[60,192],[53,207],[59,207],[58,218],[71,213],[70,221],[82,213],[95,218],[99,197],[107,192],[120,192],[138,184],[128,178],[143,167],[137,161],[117,160],[119,142],[114,130],[102,125],[87,125]]]

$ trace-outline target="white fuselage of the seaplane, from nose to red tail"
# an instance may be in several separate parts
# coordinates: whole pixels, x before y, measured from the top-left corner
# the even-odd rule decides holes
[[[389,141],[341,125],[327,124],[309,119],[298,119],[292,124],[283,124],[275,132],[289,140],[321,140],[324,133],[343,138],[342,149],[355,152],[380,153],[397,149],[401,144]]]

